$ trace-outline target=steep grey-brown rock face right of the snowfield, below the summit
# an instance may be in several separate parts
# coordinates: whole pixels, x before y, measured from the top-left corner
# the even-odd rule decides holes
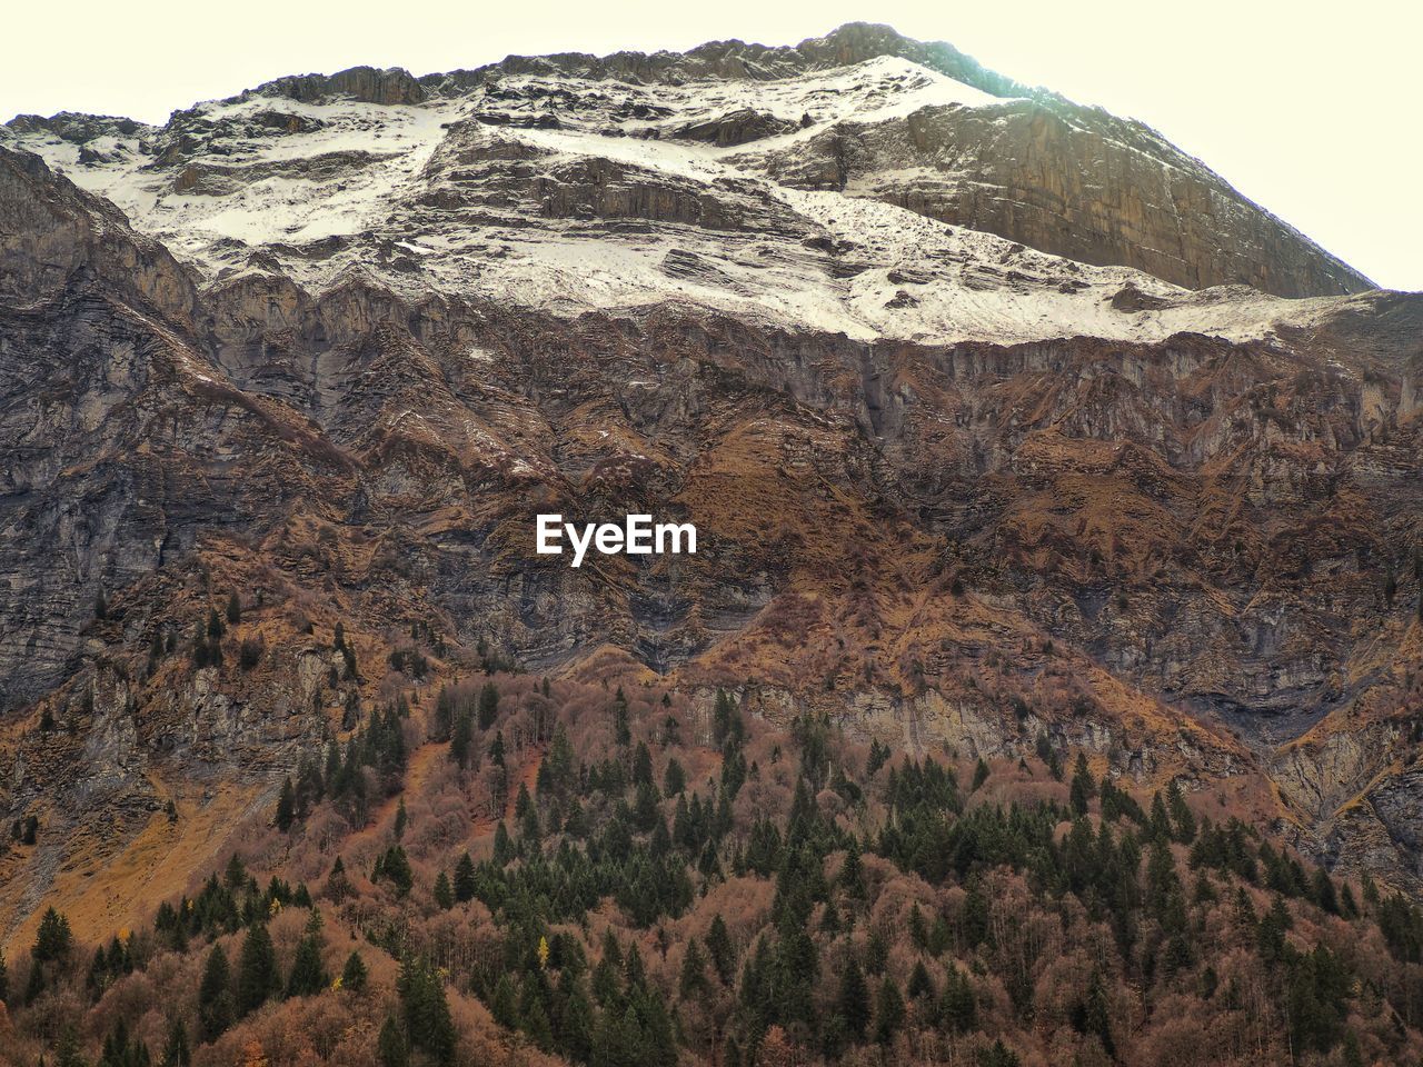
[[[1372,287],[1151,129],[1062,100],[844,122],[763,159],[797,188],[871,196],[1190,289],[1244,283],[1313,296]]]

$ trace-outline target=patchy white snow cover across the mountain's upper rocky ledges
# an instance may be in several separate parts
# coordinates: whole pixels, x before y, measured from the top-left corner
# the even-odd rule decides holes
[[[783,185],[766,165],[844,122],[939,108],[992,122],[1012,105],[881,55],[770,81],[491,75],[417,104],[255,92],[164,128],[88,124],[75,135],[30,122],[7,138],[215,282],[279,270],[320,290],[360,272],[401,293],[561,314],[670,300],[788,330],[924,343],[1261,337],[1348,300],[1192,292],[894,203]]]

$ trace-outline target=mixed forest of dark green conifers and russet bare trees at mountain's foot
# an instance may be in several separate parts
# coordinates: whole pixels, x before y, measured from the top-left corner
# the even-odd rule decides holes
[[[191,892],[0,969],[14,1064],[1417,1064],[1423,912],[1208,784],[492,673],[310,751]]]

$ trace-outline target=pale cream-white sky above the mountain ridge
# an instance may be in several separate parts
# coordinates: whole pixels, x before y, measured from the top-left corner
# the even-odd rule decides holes
[[[1423,14],[1402,0],[26,3],[3,17],[0,121],[162,121],[282,74],[793,44],[855,20],[1140,118],[1379,285],[1423,289]]]

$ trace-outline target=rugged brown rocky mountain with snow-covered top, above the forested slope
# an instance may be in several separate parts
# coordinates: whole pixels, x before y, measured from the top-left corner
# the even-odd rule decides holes
[[[0,368],[11,959],[48,906],[148,920],[303,758],[480,671],[568,726],[602,686],[787,751],[824,717],[857,790],[869,743],[1080,751],[1423,886],[1423,296],[949,46],[18,117]],[[541,512],[700,546],[572,569]]]

